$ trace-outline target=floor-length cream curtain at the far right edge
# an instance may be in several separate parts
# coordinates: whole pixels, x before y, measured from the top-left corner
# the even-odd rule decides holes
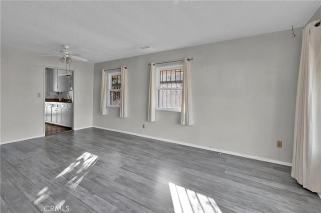
[[[321,192],[321,26],[303,28],[291,176]]]

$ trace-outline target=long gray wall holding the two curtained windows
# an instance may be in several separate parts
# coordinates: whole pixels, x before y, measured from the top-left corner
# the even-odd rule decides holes
[[[94,64],[93,125],[291,162],[302,28]],[[148,63],[194,57],[195,125],[180,113],[148,122]],[[129,117],[99,115],[101,70],[128,67]],[[142,124],[145,128],[142,128]],[[276,140],[283,147],[276,147]]]

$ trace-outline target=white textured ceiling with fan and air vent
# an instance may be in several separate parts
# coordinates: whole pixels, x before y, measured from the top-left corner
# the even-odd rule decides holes
[[[1,44],[40,54],[69,44],[96,63],[300,27],[320,2],[2,0]]]

